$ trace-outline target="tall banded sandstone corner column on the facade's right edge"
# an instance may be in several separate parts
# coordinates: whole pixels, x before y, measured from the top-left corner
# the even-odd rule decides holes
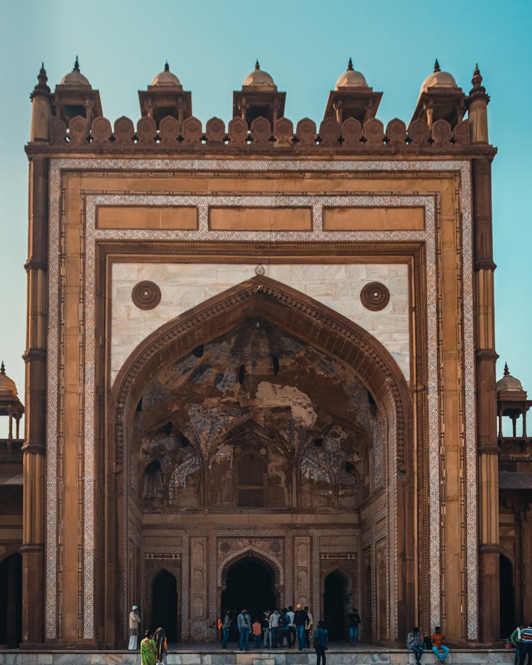
[[[499,639],[499,449],[495,386],[491,162],[474,160],[480,639]]]

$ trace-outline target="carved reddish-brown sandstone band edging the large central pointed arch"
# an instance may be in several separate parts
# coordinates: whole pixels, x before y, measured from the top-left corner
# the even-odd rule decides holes
[[[389,532],[395,552],[390,575],[397,581],[397,635],[414,621],[414,446],[411,393],[392,355],[366,330],[309,296],[265,276],[255,276],[162,325],[135,348],[116,376],[106,425],[105,615],[124,624],[127,578],[128,459],[133,415],[145,386],[167,363],[175,362],[250,318],[269,321],[299,340],[351,367],[385,414],[393,440],[389,457],[389,502],[395,515]],[[120,630],[118,628],[118,630]],[[183,627],[186,630],[186,627]],[[183,634],[185,639],[185,633]]]

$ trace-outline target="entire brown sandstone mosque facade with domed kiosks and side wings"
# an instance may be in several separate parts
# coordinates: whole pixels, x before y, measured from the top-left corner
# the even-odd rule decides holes
[[[358,608],[373,644],[498,640],[532,612],[531,402],[496,384],[478,67],[386,128],[351,61],[319,126],[258,62],[227,126],[168,65],[138,95],[111,126],[77,60],[32,94],[4,641],[123,647],[135,604],[212,642],[295,603],[333,639]]]

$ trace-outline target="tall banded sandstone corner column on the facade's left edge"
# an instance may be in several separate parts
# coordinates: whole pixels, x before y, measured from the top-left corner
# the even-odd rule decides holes
[[[48,161],[30,162],[28,324],[26,331],[26,427],[23,451],[22,641],[44,642],[46,257]]]

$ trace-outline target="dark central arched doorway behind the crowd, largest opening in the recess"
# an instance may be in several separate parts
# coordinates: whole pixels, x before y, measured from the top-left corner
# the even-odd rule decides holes
[[[221,612],[231,610],[231,639],[238,639],[236,617],[244,608],[250,617],[262,617],[264,610],[277,607],[275,579],[272,570],[255,559],[243,559],[227,572],[226,588],[221,595]]]

